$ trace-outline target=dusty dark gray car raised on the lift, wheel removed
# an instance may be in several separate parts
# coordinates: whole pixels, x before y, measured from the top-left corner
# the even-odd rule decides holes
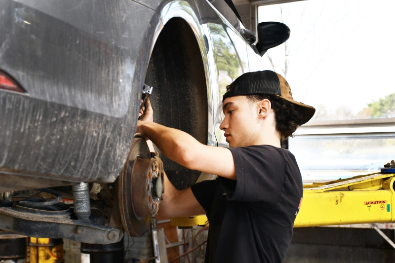
[[[143,85],[154,87],[156,122],[226,146],[221,97],[237,76],[263,70],[254,42],[230,0],[0,0],[0,229],[102,244],[122,227],[142,235],[151,214],[120,197],[132,191]],[[159,157],[176,188],[201,175]],[[89,218],[59,202],[78,206],[81,182],[100,211]]]

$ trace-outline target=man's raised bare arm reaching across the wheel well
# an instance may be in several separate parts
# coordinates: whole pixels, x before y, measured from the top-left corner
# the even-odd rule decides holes
[[[189,169],[236,180],[228,149],[203,145],[188,133],[154,122],[138,121],[136,132],[148,137],[167,158]]]

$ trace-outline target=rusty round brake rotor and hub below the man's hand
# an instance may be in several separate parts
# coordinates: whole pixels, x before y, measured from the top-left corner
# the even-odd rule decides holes
[[[118,198],[123,227],[132,236],[148,230],[152,215],[159,209],[163,192],[162,165],[156,152],[136,136],[119,176]]]

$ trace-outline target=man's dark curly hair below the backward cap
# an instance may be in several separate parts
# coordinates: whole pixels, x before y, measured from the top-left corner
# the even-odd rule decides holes
[[[246,97],[251,102],[268,99],[275,112],[276,130],[285,138],[294,136],[293,133],[300,126],[298,123],[301,122],[303,117],[297,106],[274,94],[251,94],[246,95]]]

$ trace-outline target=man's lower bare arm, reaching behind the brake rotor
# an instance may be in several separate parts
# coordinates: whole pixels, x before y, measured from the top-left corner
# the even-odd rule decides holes
[[[164,174],[163,200],[160,201],[158,215],[164,218],[189,217],[206,214],[191,188],[177,190]]]

